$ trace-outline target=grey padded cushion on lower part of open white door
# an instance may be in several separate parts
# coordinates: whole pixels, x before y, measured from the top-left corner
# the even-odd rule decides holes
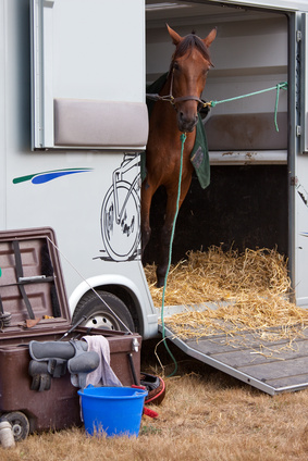
[[[54,99],[54,145],[144,149],[148,112],[140,102]]]

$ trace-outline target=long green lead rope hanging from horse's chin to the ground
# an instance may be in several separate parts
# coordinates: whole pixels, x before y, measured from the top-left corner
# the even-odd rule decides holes
[[[163,284],[163,290],[162,290],[162,301],[161,301],[162,339],[163,339],[164,347],[165,347],[168,353],[170,354],[170,357],[171,357],[171,359],[173,360],[173,363],[174,363],[174,370],[173,370],[173,372],[168,377],[173,376],[176,373],[176,371],[177,371],[177,363],[176,363],[176,360],[175,360],[173,353],[171,352],[171,350],[170,350],[170,348],[169,348],[169,346],[168,346],[168,344],[165,341],[164,319],[163,319],[164,294],[165,294],[165,288],[167,288],[168,274],[169,274],[170,266],[171,266],[172,245],[173,245],[174,232],[175,232],[175,224],[176,224],[176,219],[177,219],[178,208],[180,208],[178,204],[180,204],[180,197],[181,197],[181,182],[182,182],[182,171],[183,171],[183,152],[184,152],[185,140],[186,140],[186,134],[185,133],[182,133],[181,134],[181,142],[182,142],[182,147],[181,147],[181,163],[180,163],[180,174],[178,174],[176,209],[175,209],[175,215],[174,215],[173,225],[172,225],[172,232],[171,232],[171,237],[170,237],[169,262],[168,262],[168,267],[167,267],[165,277],[164,277],[164,284]]]

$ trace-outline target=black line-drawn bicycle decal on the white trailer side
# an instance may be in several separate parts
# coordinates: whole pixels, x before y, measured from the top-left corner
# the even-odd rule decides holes
[[[108,256],[103,260],[140,258],[140,155],[126,153],[112,174],[101,207],[101,236]]]

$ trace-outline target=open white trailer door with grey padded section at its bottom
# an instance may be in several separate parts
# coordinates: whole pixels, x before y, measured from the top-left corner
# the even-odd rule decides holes
[[[30,5],[33,149],[143,149],[144,0]]]

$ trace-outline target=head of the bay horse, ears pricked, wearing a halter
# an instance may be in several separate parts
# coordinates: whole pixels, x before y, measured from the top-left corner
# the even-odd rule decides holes
[[[201,39],[194,33],[181,37],[169,25],[167,27],[176,47],[170,66],[170,95],[173,97],[180,132],[190,133],[198,122],[200,96],[212,66],[208,49],[217,36],[217,29]]]

